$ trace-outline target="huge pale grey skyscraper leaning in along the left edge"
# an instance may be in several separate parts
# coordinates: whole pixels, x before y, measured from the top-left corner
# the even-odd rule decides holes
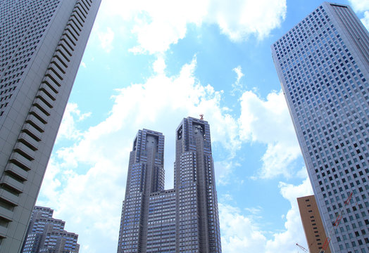
[[[101,0],[0,0],[0,252],[19,252]]]

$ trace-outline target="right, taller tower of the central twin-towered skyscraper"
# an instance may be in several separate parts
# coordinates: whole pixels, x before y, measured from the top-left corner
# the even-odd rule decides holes
[[[183,119],[176,137],[178,252],[221,252],[208,122],[192,117]]]

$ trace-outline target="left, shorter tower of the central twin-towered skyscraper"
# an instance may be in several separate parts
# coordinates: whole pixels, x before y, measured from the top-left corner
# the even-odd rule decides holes
[[[150,194],[164,189],[164,136],[139,130],[130,153],[118,252],[146,252]]]

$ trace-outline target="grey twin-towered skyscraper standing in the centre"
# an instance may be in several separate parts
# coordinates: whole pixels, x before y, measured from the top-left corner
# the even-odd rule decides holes
[[[124,252],[221,252],[208,122],[176,131],[175,187],[164,190],[164,136],[139,130],[127,175],[118,240]]]

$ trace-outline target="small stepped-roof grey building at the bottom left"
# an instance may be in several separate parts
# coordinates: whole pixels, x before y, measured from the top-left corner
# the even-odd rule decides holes
[[[22,253],[77,253],[78,235],[64,230],[65,221],[53,218],[54,210],[35,207],[23,242]]]

